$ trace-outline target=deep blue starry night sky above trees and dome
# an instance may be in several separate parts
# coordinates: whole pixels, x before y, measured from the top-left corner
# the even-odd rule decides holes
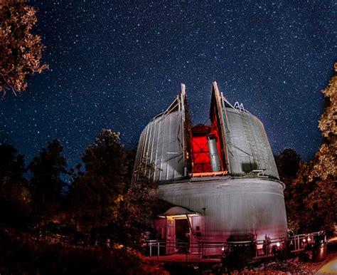
[[[70,165],[102,128],[135,147],[186,84],[208,123],[213,81],[267,131],[274,154],[318,150],[337,57],[335,1],[29,1],[50,69],[0,101],[0,141],[26,161],[58,137]]]

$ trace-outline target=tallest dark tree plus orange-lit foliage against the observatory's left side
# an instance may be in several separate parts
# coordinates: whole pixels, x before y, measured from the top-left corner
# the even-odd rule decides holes
[[[92,243],[105,246],[109,239],[110,246],[140,248],[151,230],[155,185],[145,173],[153,165],[144,160],[137,180],[129,185],[134,152],[124,149],[119,133],[105,129],[82,160],[85,172],[77,172],[70,187],[70,214],[76,227],[90,234]]]

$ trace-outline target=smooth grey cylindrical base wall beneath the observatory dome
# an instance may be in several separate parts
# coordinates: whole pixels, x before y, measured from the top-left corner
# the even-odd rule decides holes
[[[208,241],[287,235],[283,186],[274,180],[181,182],[159,186],[159,197],[201,214],[205,207]]]

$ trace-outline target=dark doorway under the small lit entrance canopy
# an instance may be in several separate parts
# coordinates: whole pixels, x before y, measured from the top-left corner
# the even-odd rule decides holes
[[[190,250],[190,227],[187,219],[175,219],[176,221],[176,253],[188,253]]]

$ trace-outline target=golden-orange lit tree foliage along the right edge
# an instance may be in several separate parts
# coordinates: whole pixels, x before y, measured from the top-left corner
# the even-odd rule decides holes
[[[316,189],[308,203],[326,230],[337,222],[337,62],[334,69],[328,86],[322,91],[325,108],[319,128],[323,144],[315,155],[309,176],[309,180],[316,183]]]

